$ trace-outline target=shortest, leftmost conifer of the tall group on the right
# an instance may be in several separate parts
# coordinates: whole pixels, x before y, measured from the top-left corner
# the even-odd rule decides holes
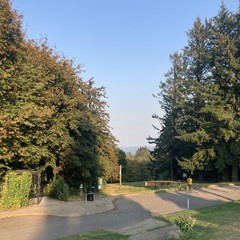
[[[157,138],[149,138],[149,142],[155,144],[152,154],[152,171],[155,178],[176,179],[179,178],[180,168],[177,159],[185,154],[186,148],[176,138],[176,120],[184,116],[182,101],[186,92],[184,85],[184,63],[182,56],[174,53],[170,56],[173,67],[166,74],[166,81],[160,84],[160,93],[156,96],[165,112],[164,117],[154,115],[160,121],[161,129]]]

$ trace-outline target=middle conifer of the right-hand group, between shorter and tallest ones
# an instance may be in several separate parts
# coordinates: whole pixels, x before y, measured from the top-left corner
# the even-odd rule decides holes
[[[206,104],[204,90],[208,88],[208,40],[207,28],[199,18],[194,22],[193,28],[188,32],[188,45],[183,49],[185,64],[184,85],[185,98],[182,109],[184,114],[178,117],[176,130],[177,138],[185,144],[191,145],[191,151],[179,159],[180,166],[191,173],[196,169],[203,170],[205,167],[204,155],[211,153],[208,148],[209,136],[203,128],[204,114],[201,109]],[[211,89],[211,87],[210,87]],[[205,95],[204,95],[205,94]],[[206,143],[206,145],[204,145]]]

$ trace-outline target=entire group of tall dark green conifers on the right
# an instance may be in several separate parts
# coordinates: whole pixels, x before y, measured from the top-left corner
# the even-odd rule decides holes
[[[239,19],[239,11],[222,3],[217,16],[196,19],[187,46],[171,55],[172,68],[157,96],[165,115],[154,116],[161,129],[149,139],[156,173],[174,178],[182,168],[239,180]]]

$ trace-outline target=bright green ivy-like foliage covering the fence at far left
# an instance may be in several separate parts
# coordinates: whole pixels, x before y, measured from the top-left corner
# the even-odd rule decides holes
[[[21,174],[9,171],[2,185],[1,205],[5,208],[18,208],[27,206],[32,185],[30,172]]]

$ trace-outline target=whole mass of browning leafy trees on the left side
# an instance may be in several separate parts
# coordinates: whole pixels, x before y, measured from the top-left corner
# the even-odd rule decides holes
[[[25,39],[9,0],[0,0],[0,43],[0,174],[35,169],[44,184],[61,174],[75,188],[117,179],[105,88],[83,81],[47,39]]]

